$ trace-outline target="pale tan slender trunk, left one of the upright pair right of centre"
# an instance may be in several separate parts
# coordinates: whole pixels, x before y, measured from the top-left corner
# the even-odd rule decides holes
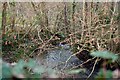
[[[82,33],[81,33],[81,40],[84,40],[86,31],[84,31],[87,27],[87,2],[83,1],[83,23],[82,23]]]

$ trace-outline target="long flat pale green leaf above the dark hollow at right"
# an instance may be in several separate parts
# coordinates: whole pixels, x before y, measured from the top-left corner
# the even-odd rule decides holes
[[[105,58],[105,59],[112,59],[113,61],[116,61],[118,59],[117,55],[115,55],[112,52],[108,52],[108,51],[95,51],[95,52],[92,52],[91,55]]]

